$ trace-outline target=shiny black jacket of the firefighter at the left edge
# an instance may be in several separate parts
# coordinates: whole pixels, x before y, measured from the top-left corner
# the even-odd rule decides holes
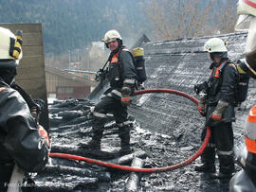
[[[0,151],[1,166],[16,163],[23,170],[33,172],[47,162],[48,148],[41,139],[26,101],[1,78]]]

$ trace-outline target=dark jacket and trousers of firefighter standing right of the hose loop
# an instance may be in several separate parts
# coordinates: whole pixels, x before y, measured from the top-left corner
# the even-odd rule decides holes
[[[210,79],[208,80],[208,100],[206,117],[207,122],[214,112],[219,100],[229,103],[228,108],[222,113],[222,121],[210,125],[211,135],[207,148],[201,155],[203,164],[214,166],[215,152],[218,154],[220,172],[231,174],[234,170],[233,163],[233,131],[231,121],[234,121],[234,103],[236,97],[236,86],[238,84],[238,72],[236,67],[222,59],[212,66]],[[202,141],[206,130],[202,132]],[[216,150],[217,149],[217,150]]]

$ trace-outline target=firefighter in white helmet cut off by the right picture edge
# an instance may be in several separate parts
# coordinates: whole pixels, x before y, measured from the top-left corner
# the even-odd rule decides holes
[[[250,78],[256,79],[256,0],[239,0],[237,4],[239,18],[236,30],[247,30],[245,59],[241,68]],[[256,106],[247,116],[245,126],[246,155],[242,156],[243,169],[231,179],[229,191],[256,191]]]

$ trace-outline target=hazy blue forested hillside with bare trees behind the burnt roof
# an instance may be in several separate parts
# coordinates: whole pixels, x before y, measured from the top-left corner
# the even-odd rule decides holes
[[[0,23],[42,23],[46,65],[98,70],[108,52],[92,47],[110,29],[131,47],[233,32],[237,0],[1,0]],[[72,68],[72,66],[71,66]]]

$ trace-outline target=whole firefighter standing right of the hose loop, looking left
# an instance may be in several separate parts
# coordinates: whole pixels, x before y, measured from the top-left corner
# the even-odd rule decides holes
[[[201,156],[202,165],[196,171],[210,172],[213,178],[230,178],[234,171],[232,121],[235,119],[234,106],[238,82],[236,66],[229,62],[228,50],[219,38],[211,38],[204,49],[212,61],[210,79],[195,86],[204,87],[206,93],[200,98],[198,111],[206,115],[206,125],[210,126],[210,142]],[[206,129],[202,132],[204,140]],[[219,173],[214,174],[215,149],[219,159]]]

